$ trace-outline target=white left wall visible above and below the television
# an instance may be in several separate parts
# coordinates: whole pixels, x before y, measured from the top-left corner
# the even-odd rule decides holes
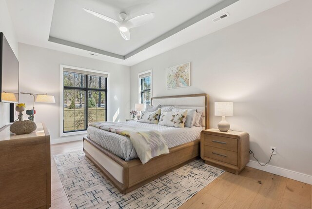
[[[18,42],[5,0],[0,0],[0,32],[3,32],[13,52],[18,57]],[[10,122],[10,105],[0,103],[0,128]]]

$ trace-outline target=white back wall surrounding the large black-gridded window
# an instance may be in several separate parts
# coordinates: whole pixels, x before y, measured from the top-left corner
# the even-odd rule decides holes
[[[48,93],[55,96],[56,103],[36,103],[35,121],[44,122],[50,130],[51,139],[59,139],[59,93],[60,64],[110,72],[108,86],[108,121],[125,121],[130,111],[130,67],[99,61],[78,55],[19,43],[20,92]],[[20,95],[20,103],[27,109],[33,105],[33,97]],[[62,139],[82,139],[81,135]],[[59,140],[57,140],[59,142]]]

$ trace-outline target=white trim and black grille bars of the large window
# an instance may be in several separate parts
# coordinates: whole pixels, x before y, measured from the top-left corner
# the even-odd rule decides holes
[[[76,87],[76,86],[64,86],[64,71],[68,72],[68,70],[65,70],[64,68],[69,68],[73,70],[81,71],[81,74],[85,75],[85,86],[84,87]],[[88,73],[97,73],[97,74],[103,74],[106,78],[105,82],[105,89],[97,89],[97,88],[89,88],[87,86],[88,84]],[[107,103],[107,98],[109,97],[109,91],[107,90],[109,88],[109,75],[110,73],[104,72],[104,71],[98,71],[98,70],[91,70],[81,67],[74,67],[74,66],[68,66],[68,65],[60,65],[60,125],[59,125],[59,136],[71,136],[71,135],[80,135],[80,134],[86,134],[86,128],[88,126],[88,111],[87,111],[87,105],[88,105],[88,91],[100,91],[100,92],[106,92],[105,97],[105,120],[107,121],[109,118],[109,104]],[[82,90],[85,91],[85,130],[73,130],[73,131],[66,131],[64,132],[64,90]]]

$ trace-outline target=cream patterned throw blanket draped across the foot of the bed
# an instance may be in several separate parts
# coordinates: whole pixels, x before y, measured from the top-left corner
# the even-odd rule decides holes
[[[129,137],[142,164],[147,163],[153,157],[169,153],[167,143],[155,129],[115,122],[96,122],[89,124],[89,126]]]

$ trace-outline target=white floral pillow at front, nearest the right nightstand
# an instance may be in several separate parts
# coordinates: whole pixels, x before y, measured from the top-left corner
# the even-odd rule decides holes
[[[187,110],[180,110],[177,112],[162,112],[159,118],[158,125],[184,128],[186,115]]]

